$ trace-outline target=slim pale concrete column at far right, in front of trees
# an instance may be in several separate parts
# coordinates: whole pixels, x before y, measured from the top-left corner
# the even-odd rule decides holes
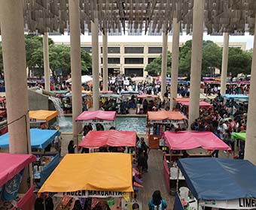
[[[221,95],[226,93],[229,39],[230,39],[229,34],[224,33],[224,43],[223,43],[223,49],[222,49],[222,65],[221,65]]]

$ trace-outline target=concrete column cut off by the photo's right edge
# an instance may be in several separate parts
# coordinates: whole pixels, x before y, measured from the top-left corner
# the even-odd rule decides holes
[[[256,23],[256,20],[255,20]],[[255,25],[256,26],[256,25]],[[251,63],[251,85],[250,95],[248,104],[248,116],[247,116],[247,127],[246,127],[246,141],[245,141],[245,160],[250,160],[251,163],[256,165],[256,27],[254,29],[254,47]]]

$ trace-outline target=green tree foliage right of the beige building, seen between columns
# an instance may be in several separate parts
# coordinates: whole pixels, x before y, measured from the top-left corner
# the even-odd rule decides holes
[[[191,50],[192,40],[188,40],[180,48],[179,52],[179,69],[178,74],[180,76],[190,76],[191,65]],[[168,73],[171,72],[171,53],[169,52],[170,61],[168,62]],[[230,47],[229,59],[228,59],[228,74],[236,76],[239,73],[250,74],[251,72],[251,58],[252,51],[242,51],[242,49],[236,47]],[[202,59],[202,75],[212,74],[212,70],[215,68],[221,69],[222,62],[222,49],[216,43],[211,40],[203,41],[203,59]],[[151,76],[157,76],[161,72],[161,56],[155,58],[145,68],[148,74]]]

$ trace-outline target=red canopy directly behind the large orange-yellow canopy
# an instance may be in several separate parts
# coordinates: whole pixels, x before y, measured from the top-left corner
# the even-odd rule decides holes
[[[91,130],[84,136],[79,144],[85,148],[99,148],[103,145],[110,146],[136,146],[135,131],[120,130]]]

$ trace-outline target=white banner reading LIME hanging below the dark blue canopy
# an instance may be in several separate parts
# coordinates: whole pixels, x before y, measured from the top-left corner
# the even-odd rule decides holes
[[[254,209],[256,208],[256,197],[225,199],[225,200],[200,200],[200,205],[213,208],[227,209]]]

